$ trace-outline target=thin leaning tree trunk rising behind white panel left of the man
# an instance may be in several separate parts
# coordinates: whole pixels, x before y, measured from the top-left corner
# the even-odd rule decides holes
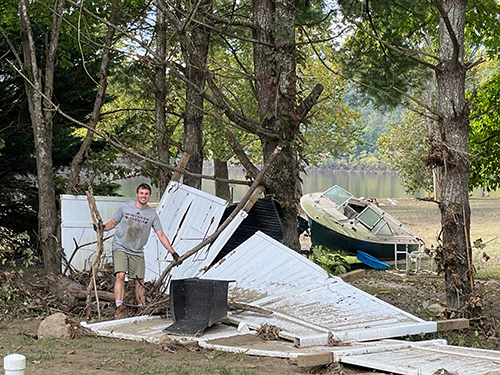
[[[122,7],[120,0],[113,0],[111,6],[110,22],[113,25],[118,25],[120,19],[120,14]],[[104,100],[106,96],[106,88],[108,87],[108,66],[110,59],[111,46],[113,45],[113,38],[115,35],[115,29],[113,27],[108,27],[108,32],[106,34],[106,39],[104,42],[104,53],[101,59],[101,66],[99,68],[99,89],[97,91],[97,96],[94,101],[94,108],[92,111],[92,117],[89,122],[89,127],[95,129],[97,123],[99,122],[99,115],[101,108],[104,105]],[[79,194],[78,185],[80,184],[80,173],[83,168],[85,161],[89,157],[90,146],[94,138],[94,133],[87,130],[85,139],[80,145],[80,149],[71,161],[70,172],[68,176],[68,185],[66,186],[66,194]]]

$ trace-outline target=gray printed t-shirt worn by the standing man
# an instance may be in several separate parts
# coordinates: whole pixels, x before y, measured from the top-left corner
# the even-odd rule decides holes
[[[151,207],[138,208],[135,201],[124,203],[113,216],[118,222],[113,239],[113,250],[121,250],[132,255],[144,255],[151,228],[162,230],[160,218]]]

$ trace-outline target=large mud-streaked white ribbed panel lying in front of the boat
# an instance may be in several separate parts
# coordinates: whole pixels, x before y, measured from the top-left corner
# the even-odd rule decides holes
[[[230,298],[272,310],[231,313],[253,328],[271,324],[297,345],[373,340],[435,332],[427,322],[326,272],[304,256],[258,232],[208,270],[204,278],[236,280]]]

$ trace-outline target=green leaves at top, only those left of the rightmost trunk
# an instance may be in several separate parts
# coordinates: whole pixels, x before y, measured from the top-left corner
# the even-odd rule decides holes
[[[432,1],[375,1],[364,4],[341,0],[347,20],[360,20],[362,26],[380,40],[403,50],[435,50],[426,44],[436,33],[439,21]],[[429,38],[430,37],[430,38]],[[342,46],[344,74],[353,79],[365,101],[391,109],[405,102],[404,92],[420,91],[430,74],[418,62],[395,52],[384,43],[357,29]],[[396,88],[397,90],[394,90]]]

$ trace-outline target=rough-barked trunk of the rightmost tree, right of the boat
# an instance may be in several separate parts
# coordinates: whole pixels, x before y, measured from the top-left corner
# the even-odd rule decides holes
[[[447,13],[440,22],[441,65],[436,70],[443,155],[440,200],[442,258],[448,306],[464,307],[473,283],[469,206],[469,109],[465,100],[464,30],[467,0],[436,1]],[[443,12],[442,12],[443,13]]]

